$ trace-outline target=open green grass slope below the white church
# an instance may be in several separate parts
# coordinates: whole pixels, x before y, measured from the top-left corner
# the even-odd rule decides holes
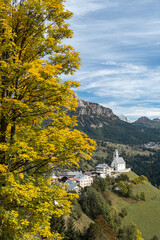
[[[129,175],[131,179],[134,178],[134,175],[136,177],[133,172],[130,172]],[[150,240],[155,234],[160,238],[160,190],[144,181],[133,187],[134,194],[141,192],[145,193],[145,202],[121,198],[114,193],[111,193],[110,198],[118,211],[126,208],[128,215],[124,218],[123,224],[136,223],[145,240]]]

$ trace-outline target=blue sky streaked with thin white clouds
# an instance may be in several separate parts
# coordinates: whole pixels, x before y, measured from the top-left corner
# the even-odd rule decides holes
[[[111,108],[131,120],[160,118],[160,1],[67,0],[74,13],[67,40],[80,52],[85,101]]]

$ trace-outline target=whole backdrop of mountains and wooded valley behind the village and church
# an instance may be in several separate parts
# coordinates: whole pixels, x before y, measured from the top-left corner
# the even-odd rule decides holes
[[[72,112],[77,117],[76,128],[97,142],[92,160],[80,163],[80,169],[92,170],[103,162],[110,164],[113,151],[118,149],[135,173],[160,186],[159,119],[142,117],[136,122],[125,122],[111,109],[76,97],[79,104],[76,112]]]

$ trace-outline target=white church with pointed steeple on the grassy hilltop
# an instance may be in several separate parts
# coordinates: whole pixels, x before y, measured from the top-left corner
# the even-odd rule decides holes
[[[129,172],[131,170],[130,168],[126,168],[126,162],[122,157],[119,157],[117,149],[113,153],[111,167],[115,172]]]

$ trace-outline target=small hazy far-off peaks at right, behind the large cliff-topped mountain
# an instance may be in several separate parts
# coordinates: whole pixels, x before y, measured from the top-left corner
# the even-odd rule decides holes
[[[148,127],[148,128],[160,128],[160,119],[155,118],[153,120],[147,117],[140,117],[133,123],[135,126]]]

